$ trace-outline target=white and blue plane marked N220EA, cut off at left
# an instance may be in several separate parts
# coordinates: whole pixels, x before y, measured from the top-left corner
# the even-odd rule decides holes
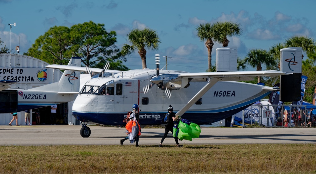
[[[65,65],[66,66],[66,65]],[[73,57],[67,66],[81,66],[81,57]],[[20,112],[76,99],[80,72],[66,70],[58,82],[24,90],[10,88],[17,81],[0,81],[0,113]]]

